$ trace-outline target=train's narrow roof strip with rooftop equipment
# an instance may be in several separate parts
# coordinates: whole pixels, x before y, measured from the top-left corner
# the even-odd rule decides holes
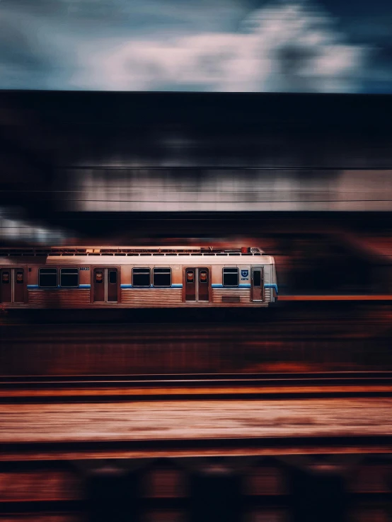
[[[49,247],[49,248],[0,248],[1,256],[138,256],[138,255],[263,255],[258,247],[217,248],[202,246],[185,247]]]

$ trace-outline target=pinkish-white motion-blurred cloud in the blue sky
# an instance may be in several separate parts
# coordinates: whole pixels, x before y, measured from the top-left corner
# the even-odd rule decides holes
[[[306,3],[251,13],[234,32],[84,42],[74,88],[114,91],[357,92],[369,48]]]

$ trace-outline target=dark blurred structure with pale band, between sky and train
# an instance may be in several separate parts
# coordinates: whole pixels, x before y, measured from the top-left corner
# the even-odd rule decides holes
[[[258,245],[391,295],[390,95],[1,91],[2,245]]]

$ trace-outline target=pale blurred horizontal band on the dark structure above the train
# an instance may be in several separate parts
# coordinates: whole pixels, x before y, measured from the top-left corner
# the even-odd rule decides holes
[[[253,168],[83,169],[69,175],[67,211],[391,211],[392,170],[314,172]]]

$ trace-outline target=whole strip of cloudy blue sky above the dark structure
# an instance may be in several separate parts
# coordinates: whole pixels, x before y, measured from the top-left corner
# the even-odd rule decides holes
[[[0,0],[0,88],[392,93],[392,1]]]

